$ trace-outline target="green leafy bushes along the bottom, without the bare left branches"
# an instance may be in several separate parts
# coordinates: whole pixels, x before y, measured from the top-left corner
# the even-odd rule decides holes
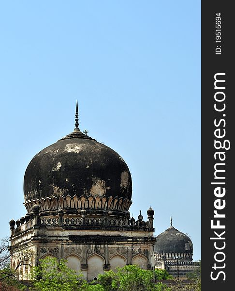
[[[161,271],[161,272],[158,272]],[[158,279],[171,279],[164,270],[157,272],[142,270],[135,265],[117,268],[117,272],[108,271],[98,275],[98,279],[88,283],[82,275],[66,266],[66,260],[56,258],[40,260],[40,265],[32,268],[32,291],[201,291],[198,281],[182,286],[181,281],[166,287],[162,283],[154,284],[154,275]],[[196,271],[195,274],[199,272]],[[191,276],[195,276],[191,274]],[[12,290],[16,291],[16,290]]]

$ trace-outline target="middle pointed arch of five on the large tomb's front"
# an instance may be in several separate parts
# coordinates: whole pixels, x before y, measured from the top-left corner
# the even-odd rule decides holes
[[[103,264],[105,260],[98,254],[91,255],[88,260],[88,280],[93,280],[99,274],[103,274]]]

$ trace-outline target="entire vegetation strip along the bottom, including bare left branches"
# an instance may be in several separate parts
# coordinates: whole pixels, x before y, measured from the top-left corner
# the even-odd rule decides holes
[[[31,252],[16,251],[9,245],[9,239],[0,240],[0,290],[23,291],[26,287],[17,281],[17,273],[23,265],[31,265]],[[10,269],[10,257],[17,256],[15,270]],[[14,258],[14,257],[13,257]],[[82,275],[76,275],[66,265],[66,260],[56,258],[40,260],[40,265],[31,268],[32,291],[201,291],[201,261],[199,267],[188,273],[192,284],[182,287],[177,281],[170,288],[157,280],[173,279],[166,270],[156,269],[154,272],[142,270],[136,265],[117,268],[117,272],[108,271],[98,276],[98,280],[88,283]]]

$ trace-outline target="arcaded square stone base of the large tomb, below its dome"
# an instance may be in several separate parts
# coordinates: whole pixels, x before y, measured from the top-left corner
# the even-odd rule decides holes
[[[17,253],[34,250],[33,264],[40,259],[66,259],[70,268],[93,280],[104,271],[136,264],[143,269],[154,269],[154,242],[151,221],[112,215],[34,215],[28,221],[11,223],[11,243]],[[141,218],[142,217],[142,218]],[[20,222],[20,223],[19,223]],[[14,259],[12,259],[14,268]],[[24,275],[23,275],[24,274]],[[28,280],[24,269],[19,279]]]

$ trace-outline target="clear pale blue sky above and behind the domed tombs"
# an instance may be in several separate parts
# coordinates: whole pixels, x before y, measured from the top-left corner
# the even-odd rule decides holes
[[[0,1],[0,237],[26,214],[30,160],[80,129],[132,173],[130,212],[201,259],[201,3]]]

